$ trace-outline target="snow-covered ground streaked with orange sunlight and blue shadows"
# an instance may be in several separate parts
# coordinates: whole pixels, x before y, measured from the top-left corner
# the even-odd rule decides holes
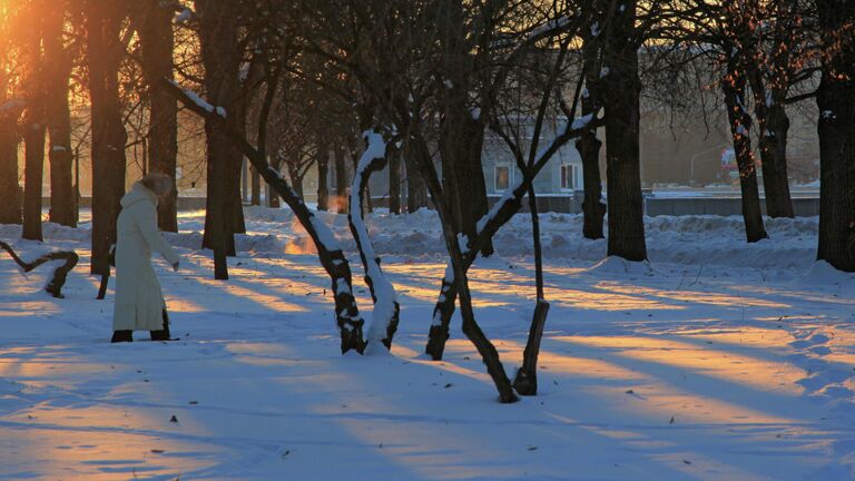
[[[352,251],[341,216],[324,215]],[[368,216],[402,304],[392,355],[341,356],[328,279],[286,210],[247,210],[232,279],[181,217],[156,263],[180,341],[111,345],[89,234],[46,225],[81,264],[66,298],[0,256],[0,479],[853,480],[855,276],[815,265],[816,218],[647,219],[651,268],[607,261],[581,218],[542,216],[540,395],[502,405],[459,320],[423,351],[445,258],[431,213]],[[471,271],[512,375],[533,310],[529,222]],[[24,253],[20,227],[0,239]],[[371,303],[348,254],[361,308]]]

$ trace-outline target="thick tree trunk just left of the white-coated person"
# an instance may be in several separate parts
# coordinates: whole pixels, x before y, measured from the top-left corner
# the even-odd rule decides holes
[[[89,95],[92,111],[92,264],[91,273],[110,272],[110,246],[125,194],[127,132],[119,99],[119,66],[125,46],[119,33],[125,18],[119,2],[87,2]]]

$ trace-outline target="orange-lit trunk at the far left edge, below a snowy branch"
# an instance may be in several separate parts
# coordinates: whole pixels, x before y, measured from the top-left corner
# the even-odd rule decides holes
[[[0,102],[0,224],[21,223],[21,198],[18,186],[20,139],[18,118],[22,109],[22,100]]]

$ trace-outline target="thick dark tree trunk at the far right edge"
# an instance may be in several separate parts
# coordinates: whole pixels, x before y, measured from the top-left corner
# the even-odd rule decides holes
[[[855,4],[817,1],[823,45],[819,107],[817,258],[855,272]]]

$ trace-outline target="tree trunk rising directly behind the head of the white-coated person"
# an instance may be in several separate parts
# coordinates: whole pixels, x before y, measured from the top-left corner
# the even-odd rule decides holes
[[[170,3],[147,0],[145,18],[139,30],[142,71],[148,84],[151,106],[149,138],[149,171],[166,174],[175,179],[178,156],[178,102],[163,87],[159,79],[174,78],[173,17]],[[178,188],[174,183],[169,195],[157,206],[157,224],[161,230],[178,232]]]

